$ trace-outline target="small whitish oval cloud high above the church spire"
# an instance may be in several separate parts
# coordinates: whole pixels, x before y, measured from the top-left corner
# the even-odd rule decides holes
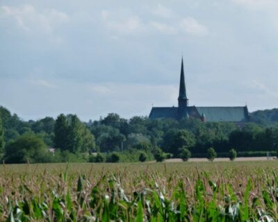
[[[193,17],[186,17],[182,19],[179,24],[181,30],[185,33],[191,35],[206,35],[208,34],[208,29],[203,24],[200,24],[196,19]]]

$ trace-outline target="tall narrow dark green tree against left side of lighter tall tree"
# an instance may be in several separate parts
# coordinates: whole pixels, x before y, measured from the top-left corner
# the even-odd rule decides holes
[[[54,126],[54,146],[64,151],[67,144],[67,118],[64,114],[60,114]]]

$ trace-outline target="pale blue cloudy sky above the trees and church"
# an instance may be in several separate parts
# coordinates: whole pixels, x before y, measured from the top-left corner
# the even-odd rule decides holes
[[[278,107],[278,1],[0,1],[0,105],[24,120]]]

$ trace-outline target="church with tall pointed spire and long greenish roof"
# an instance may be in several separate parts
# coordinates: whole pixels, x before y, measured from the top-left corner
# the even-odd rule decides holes
[[[188,105],[186,82],[183,71],[183,59],[181,59],[181,78],[179,83],[178,101],[178,107],[153,107],[149,114],[149,119],[172,118],[179,120],[184,117],[194,117],[203,122],[245,123],[249,121],[247,105],[229,107],[199,107]]]

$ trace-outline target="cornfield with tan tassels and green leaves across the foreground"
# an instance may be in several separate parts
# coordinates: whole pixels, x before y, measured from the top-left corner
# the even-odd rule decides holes
[[[278,162],[0,167],[0,221],[277,221]]]

